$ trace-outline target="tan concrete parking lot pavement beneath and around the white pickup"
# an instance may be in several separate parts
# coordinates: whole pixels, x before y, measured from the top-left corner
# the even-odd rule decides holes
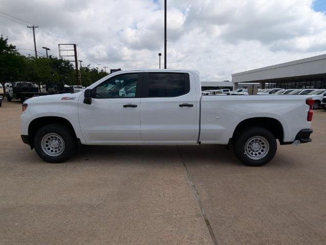
[[[50,164],[21,142],[20,113],[0,108],[1,245],[326,244],[323,110],[313,142],[263,167],[213,145],[82,146]]]

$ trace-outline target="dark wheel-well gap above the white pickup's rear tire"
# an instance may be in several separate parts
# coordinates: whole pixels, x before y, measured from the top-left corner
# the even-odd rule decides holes
[[[241,121],[234,129],[232,142],[244,129],[262,127],[269,130],[280,143],[284,142],[284,129],[279,120],[272,117],[251,117]]]

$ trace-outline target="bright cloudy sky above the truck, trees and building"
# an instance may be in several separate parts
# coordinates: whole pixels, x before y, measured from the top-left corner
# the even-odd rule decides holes
[[[204,81],[326,53],[326,0],[168,0],[167,6],[167,68],[199,70]],[[83,65],[158,68],[164,53],[162,0],[0,0],[0,11],[0,34],[17,47],[34,49],[26,25],[35,23],[39,52],[48,46],[58,56],[58,43],[77,43]],[[34,55],[27,50],[19,51]]]

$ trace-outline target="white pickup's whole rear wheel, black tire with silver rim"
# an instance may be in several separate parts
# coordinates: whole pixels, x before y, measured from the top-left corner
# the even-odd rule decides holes
[[[262,139],[262,142],[259,142],[260,139]],[[250,148],[250,142],[255,143],[256,148],[259,149],[257,152],[255,152],[257,149],[252,150]],[[276,149],[277,143],[274,135],[269,130],[261,127],[249,127],[242,130],[235,136],[233,144],[233,151],[236,157],[248,166],[265,165],[273,159]],[[257,154],[257,156],[254,154]]]

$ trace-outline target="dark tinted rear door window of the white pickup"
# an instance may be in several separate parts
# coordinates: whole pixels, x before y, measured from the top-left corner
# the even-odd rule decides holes
[[[148,94],[144,94],[147,95],[146,97],[177,97],[186,94],[190,91],[189,74],[174,72],[149,73],[147,91]]]

